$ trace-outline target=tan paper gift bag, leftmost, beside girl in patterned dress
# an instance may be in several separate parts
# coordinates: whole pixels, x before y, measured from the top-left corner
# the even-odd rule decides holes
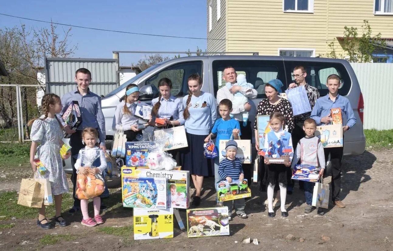
[[[22,179],[18,204],[26,207],[41,208],[44,201],[44,186],[32,179]]]

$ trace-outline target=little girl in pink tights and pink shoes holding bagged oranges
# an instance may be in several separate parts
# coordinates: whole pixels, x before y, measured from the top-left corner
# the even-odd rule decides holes
[[[78,159],[75,163],[75,169],[77,170],[76,171],[77,174],[81,173],[84,176],[88,176],[89,174],[92,176],[95,176],[95,174],[102,175],[103,171],[107,168],[107,161],[105,159],[105,154],[97,146],[97,139],[98,139],[98,132],[95,128],[87,127],[83,129],[82,140],[83,143],[86,144],[86,147],[79,151]],[[88,166],[89,165],[88,160],[90,160],[90,162],[92,163],[90,167]],[[94,166],[95,168],[91,168],[92,166]],[[88,227],[94,227],[97,224],[103,224],[104,223],[103,219],[99,214],[100,207],[101,207],[101,198],[99,195],[101,195],[101,193],[104,191],[104,187],[103,187],[104,182],[100,182],[100,183],[97,182],[95,183],[96,187],[92,186],[92,188],[94,188],[94,191],[98,190],[97,188],[99,188],[99,186],[102,186],[101,193],[100,191],[98,191],[97,196],[93,198],[93,205],[94,205],[94,220],[93,220],[92,218],[89,217],[88,214],[89,200],[82,199],[84,195],[83,187],[86,185],[84,184],[84,179],[81,178],[82,177],[78,175],[77,178],[78,189],[75,193],[78,196],[78,198],[81,198],[81,211],[83,216],[83,220],[81,224]],[[87,179],[89,180],[89,178]],[[93,182],[93,180],[90,180],[89,182]]]

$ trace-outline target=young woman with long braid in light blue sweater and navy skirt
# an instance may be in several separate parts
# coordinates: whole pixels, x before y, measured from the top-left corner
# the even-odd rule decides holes
[[[203,144],[217,118],[217,108],[214,96],[201,91],[198,74],[191,74],[187,82],[189,94],[183,98],[183,117],[188,147],[182,148],[182,168],[190,171],[196,189],[193,206],[198,207],[203,177],[209,175],[208,162],[213,167],[213,159],[204,157]]]

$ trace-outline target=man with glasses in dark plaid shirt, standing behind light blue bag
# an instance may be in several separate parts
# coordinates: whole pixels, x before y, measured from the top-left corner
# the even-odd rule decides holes
[[[290,84],[288,89],[292,89],[298,86],[304,86],[307,92],[307,97],[309,98],[311,110],[314,108],[314,105],[317,99],[320,97],[318,89],[314,86],[310,86],[306,82],[307,72],[304,66],[296,66],[294,68],[294,72],[292,74],[295,82]],[[305,137],[303,131],[303,123],[306,119],[308,119],[311,115],[311,112],[306,112],[304,114],[299,114],[294,116],[295,129],[292,131],[292,145],[294,146],[294,150],[296,150],[296,146],[301,138]],[[289,174],[288,174],[289,175]],[[291,174],[292,175],[292,174]],[[294,183],[288,182],[288,189],[286,190],[288,194],[292,194]],[[299,181],[299,187],[303,188],[303,182]]]

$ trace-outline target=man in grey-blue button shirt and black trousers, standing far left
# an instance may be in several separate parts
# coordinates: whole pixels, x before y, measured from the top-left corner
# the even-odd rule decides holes
[[[100,148],[105,151],[105,118],[104,114],[101,110],[101,98],[89,90],[89,84],[92,80],[92,73],[85,69],[80,68],[75,72],[75,82],[77,86],[75,90],[68,92],[63,95],[61,98],[61,104],[63,108],[59,114],[57,114],[57,118],[64,126],[64,131],[66,133],[71,134],[70,137],[70,146],[71,148],[71,155],[73,164],[75,164],[76,156],[79,153],[81,148],[85,146],[82,144],[82,130],[86,127],[93,127],[96,128],[99,134],[99,141],[100,141]],[[72,130],[68,127],[68,125],[64,122],[62,115],[67,110],[68,106],[72,101],[78,101],[79,108],[81,110],[82,115],[82,123],[79,125],[77,130]],[[75,213],[80,209],[80,200],[75,198],[75,187],[76,187],[76,169],[73,168],[72,174],[72,183],[73,183],[73,198],[74,198],[74,205],[73,208],[70,209],[69,213]],[[105,191],[107,192],[107,191]],[[104,192],[104,193],[105,193]]]

